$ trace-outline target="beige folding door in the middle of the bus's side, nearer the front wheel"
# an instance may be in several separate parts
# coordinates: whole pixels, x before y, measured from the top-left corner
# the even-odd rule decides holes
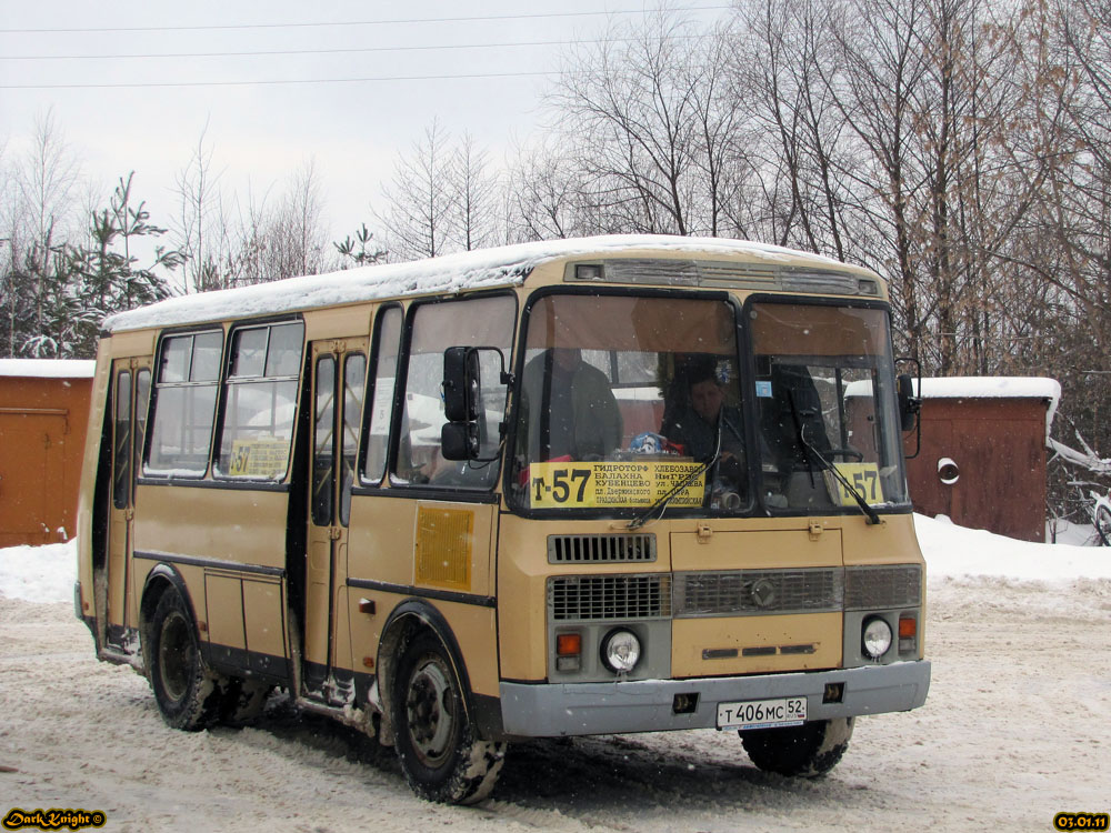
[[[367,340],[313,342],[312,438],[304,576],[304,694],[342,700],[333,670],[346,595],[351,484],[367,380]],[[342,659],[342,658],[341,658]],[[347,658],[350,659],[349,656]]]

